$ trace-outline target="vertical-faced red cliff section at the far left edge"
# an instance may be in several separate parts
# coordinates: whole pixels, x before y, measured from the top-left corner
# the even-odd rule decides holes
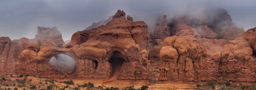
[[[0,43],[0,72],[2,74],[15,74],[18,55],[23,50],[28,49],[28,39],[20,38],[11,41],[9,37],[0,37]]]

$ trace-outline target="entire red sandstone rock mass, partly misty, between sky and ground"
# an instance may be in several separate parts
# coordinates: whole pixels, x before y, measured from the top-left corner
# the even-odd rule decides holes
[[[244,32],[224,9],[167,18],[168,15],[160,16],[150,33],[144,21],[135,21],[118,10],[110,20],[77,31],[67,44],[56,27],[38,27],[34,39],[11,41],[0,37],[0,74],[105,80],[256,81],[255,28]],[[69,64],[70,60],[76,65]]]

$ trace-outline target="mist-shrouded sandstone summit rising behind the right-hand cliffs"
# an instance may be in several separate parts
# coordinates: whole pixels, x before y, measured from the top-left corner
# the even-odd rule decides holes
[[[154,37],[190,36],[208,39],[232,40],[244,30],[237,27],[225,9],[206,9],[196,15],[184,14],[173,17],[166,25],[166,19],[158,19]],[[161,28],[160,28],[161,27]]]

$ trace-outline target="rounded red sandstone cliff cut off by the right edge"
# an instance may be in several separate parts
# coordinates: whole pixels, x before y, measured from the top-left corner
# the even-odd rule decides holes
[[[254,82],[255,76],[255,37],[253,29],[247,30],[242,36],[230,40],[222,50],[220,70],[222,76],[234,82]],[[254,49],[254,50],[253,50]]]

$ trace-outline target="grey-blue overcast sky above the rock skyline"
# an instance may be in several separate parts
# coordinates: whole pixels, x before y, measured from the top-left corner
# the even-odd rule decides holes
[[[245,30],[256,27],[256,1],[167,1],[167,0],[0,0],[0,36],[34,38],[37,27],[54,27],[70,40],[73,33],[93,22],[108,19],[118,9],[134,20],[155,24],[155,16],[167,18],[203,8],[224,8]]]

